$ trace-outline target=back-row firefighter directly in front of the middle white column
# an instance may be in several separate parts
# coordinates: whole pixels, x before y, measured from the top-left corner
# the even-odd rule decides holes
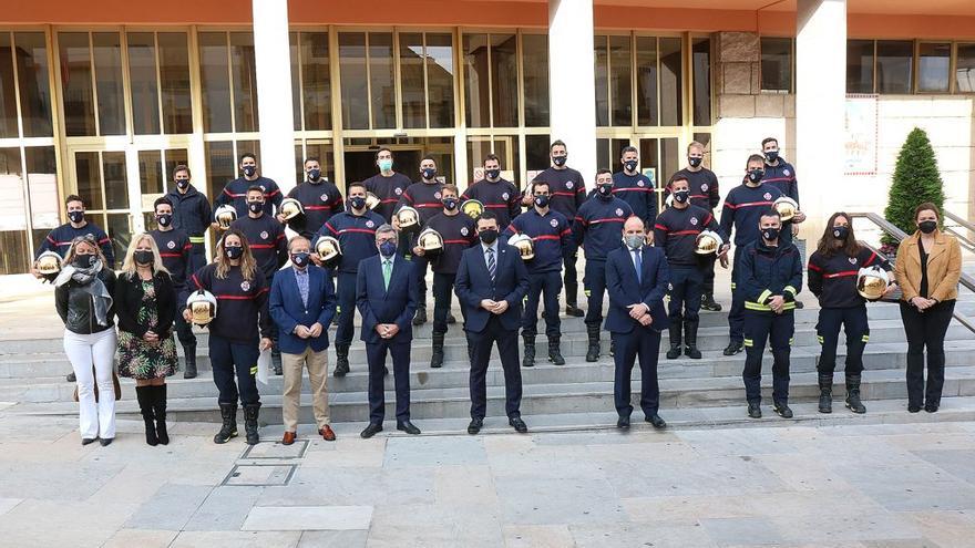
[[[586,184],[583,175],[577,170],[565,165],[568,159],[568,152],[565,143],[555,141],[548,147],[548,154],[552,156],[552,167],[545,169],[535,176],[536,182],[548,183],[551,208],[553,211],[562,214],[566,219],[575,219],[579,206],[586,200]],[[532,197],[525,197],[525,201],[531,203]],[[528,205],[528,204],[525,204]],[[582,318],[583,311],[578,308],[578,272],[576,272],[576,259],[578,259],[578,247],[574,241],[569,241],[565,249],[563,265],[565,266],[565,313]],[[532,268],[528,267],[528,271]]]

